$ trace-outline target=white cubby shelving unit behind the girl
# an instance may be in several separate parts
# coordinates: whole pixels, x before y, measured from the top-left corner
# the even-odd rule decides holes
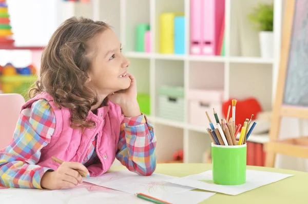
[[[137,78],[138,90],[150,95],[151,115],[148,118],[158,140],[158,162],[170,161],[174,151],[183,149],[184,163],[199,163],[202,162],[203,152],[210,149],[211,141],[206,133],[208,124],[194,126],[188,123],[189,88],[222,88],[225,100],[255,97],[263,110],[272,109],[284,2],[274,0],[275,53],[273,59],[263,59],[255,54],[259,49],[255,46],[259,44],[256,38],[258,35],[252,26],[247,26],[246,18],[246,13],[252,11],[260,1],[225,0],[225,56],[189,55],[189,0],[93,0],[91,4],[75,4],[75,15],[105,20],[119,35],[124,55],[131,60],[129,71]],[[273,0],[262,2],[271,3]],[[164,55],[158,52],[159,16],[163,12],[185,13],[185,55]],[[150,25],[151,53],[134,52],[134,31],[139,23]],[[243,34],[241,29],[249,31],[244,32],[246,38],[240,37]],[[239,40],[242,38],[246,41]],[[254,52],[241,52],[243,43],[247,42],[251,42]],[[184,86],[184,122],[158,117],[158,87],[163,84]],[[264,143],[268,138],[266,134],[252,135],[249,140]]]

